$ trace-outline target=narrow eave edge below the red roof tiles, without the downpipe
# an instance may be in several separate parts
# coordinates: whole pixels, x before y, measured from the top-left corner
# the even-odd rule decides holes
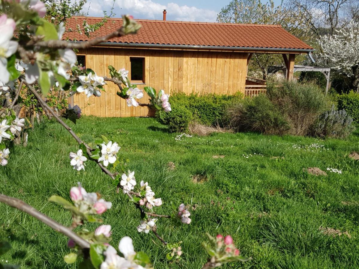
[[[86,42],[86,41],[70,41]],[[257,52],[257,53],[311,53],[315,49],[297,48],[253,48],[253,47],[222,47],[222,46],[196,46],[196,45],[171,45],[171,44],[144,44],[144,43],[116,43],[103,42],[95,47],[119,47],[119,48],[144,48],[144,49],[177,49],[177,50],[204,50],[204,51],[223,51],[223,52]]]

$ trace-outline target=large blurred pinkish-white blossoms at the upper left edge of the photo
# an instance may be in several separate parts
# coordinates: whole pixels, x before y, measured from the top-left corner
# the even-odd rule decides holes
[[[15,27],[13,19],[9,19],[6,14],[0,16],[0,81],[3,83],[8,83],[10,78],[7,58],[13,55],[18,48],[18,43],[11,40]]]

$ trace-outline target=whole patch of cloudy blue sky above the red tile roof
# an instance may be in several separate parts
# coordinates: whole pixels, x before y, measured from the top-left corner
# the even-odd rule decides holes
[[[162,20],[162,11],[167,9],[168,20],[184,20],[192,22],[215,22],[218,12],[227,1],[209,0],[116,0],[116,17],[121,14],[131,14],[138,19]],[[274,0],[276,4],[280,0]],[[113,0],[89,0],[89,16],[101,16],[102,10],[109,10]]]

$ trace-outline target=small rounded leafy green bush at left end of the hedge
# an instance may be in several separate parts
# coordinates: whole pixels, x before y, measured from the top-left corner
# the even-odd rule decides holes
[[[192,121],[192,113],[184,105],[171,104],[172,111],[163,113],[163,123],[169,128],[172,133],[185,132],[188,129],[188,124]]]

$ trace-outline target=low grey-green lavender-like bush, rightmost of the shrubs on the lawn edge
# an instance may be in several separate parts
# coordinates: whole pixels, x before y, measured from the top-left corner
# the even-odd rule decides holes
[[[353,118],[345,110],[332,108],[324,112],[313,125],[313,135],[318,137],[345,138],[355,130]]]

